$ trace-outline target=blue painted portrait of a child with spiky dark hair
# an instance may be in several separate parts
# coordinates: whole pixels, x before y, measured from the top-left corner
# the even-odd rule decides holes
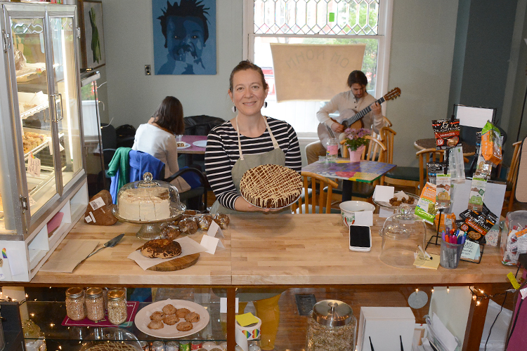
[[[155,74],[216,74],[216,0],[152,0]]]

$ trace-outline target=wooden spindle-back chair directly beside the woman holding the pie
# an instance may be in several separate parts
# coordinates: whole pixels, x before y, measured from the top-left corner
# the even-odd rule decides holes
[[[331,210],[331,200],[333,195],[333,189],[339,185],[329,178],[320,176],[316,173],[311,172],[301,172],[302,178],[304,178],[304,194],[303,197],[300,197],[298,204],[293,204],[292,211],[293,213],[332,213]],[[311,182],[308,181],[308,178],[311,178]],[[311,191],[313,189],[313,191]],[[326,191],[317,192],[315,189],[325,189]],[[310,196],[311,194],[311,196]],[[317,200],[318,197],[318,200]],[[303,204],[304,202],[304,204]],[[340,213],[340,211],[338,211]]]

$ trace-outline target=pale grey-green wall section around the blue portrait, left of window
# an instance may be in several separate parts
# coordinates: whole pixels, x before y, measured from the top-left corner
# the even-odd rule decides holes
[[[145,123],[167,95],[181,100],[186,116],[232,115],[227,89],[230,70],[242,60],[242,0],[217,1],[216,13],[218,74],[146,76],[145,65],[154,68],[152,1],[103,0],[106,108],[114,126]]]

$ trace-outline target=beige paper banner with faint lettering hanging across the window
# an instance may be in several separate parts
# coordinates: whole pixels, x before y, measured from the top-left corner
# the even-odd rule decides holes
[[[366,44],[271,44],[276,100],[331,100],[363,67]]]

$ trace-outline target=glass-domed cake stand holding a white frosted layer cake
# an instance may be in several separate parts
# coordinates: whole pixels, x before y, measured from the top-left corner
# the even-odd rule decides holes
[[[152,173],[146,172],[143,180],[125,184],[119,189],[113,214],[118,220],[143,225],[137,237],[152,240],[160,238],[161,223],[175,220],[185,210],[174,185],[152,180]]]

